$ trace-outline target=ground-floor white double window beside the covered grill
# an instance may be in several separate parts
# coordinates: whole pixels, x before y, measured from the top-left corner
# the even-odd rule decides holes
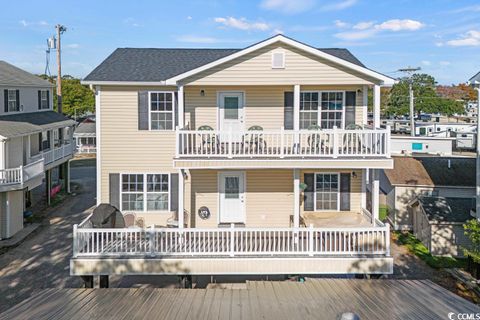
[[[168,174],[122,174],[122,210],[169,209]]]

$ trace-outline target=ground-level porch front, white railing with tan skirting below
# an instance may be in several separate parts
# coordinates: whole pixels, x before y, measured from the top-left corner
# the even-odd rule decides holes
[[[73,230],[71,273],[391,273],[388,225]]]

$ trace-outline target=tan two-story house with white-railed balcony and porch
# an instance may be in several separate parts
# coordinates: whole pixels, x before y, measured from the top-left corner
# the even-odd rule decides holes
[[[76,225],[72,275],[392,272],[378,170],[393,167],[380,87],[394,80],[348,50],[283,35],[122,48],[83,83],[97,201],[132,226]]]

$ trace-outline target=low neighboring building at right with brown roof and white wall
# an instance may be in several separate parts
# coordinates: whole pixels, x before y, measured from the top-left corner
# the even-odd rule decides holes
[[[394,157],[394,168],[380,174],[388,219],[395,230],[412,230],[409,204],[419,196],[475,196],[475,158]]]

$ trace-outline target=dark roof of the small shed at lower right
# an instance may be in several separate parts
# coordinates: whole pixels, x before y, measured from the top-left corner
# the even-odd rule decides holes
[[[419,197],[418,202],[430,222],[464,223],[472,219],[474,198]]]

